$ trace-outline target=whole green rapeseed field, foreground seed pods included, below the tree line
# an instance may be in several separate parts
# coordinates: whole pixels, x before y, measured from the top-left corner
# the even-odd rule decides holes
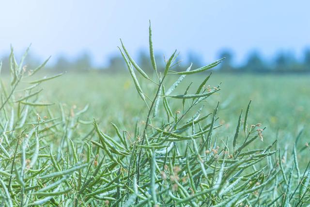
[[[174,55],[153,75],[126,54],[130,75],[45,76],[12,53],[1,205],[308,204],[309,76],[174,72]]]

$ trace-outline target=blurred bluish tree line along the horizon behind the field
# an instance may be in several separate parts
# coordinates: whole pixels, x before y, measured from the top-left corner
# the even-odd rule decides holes
[[[296,60],[294,55],[290,52],[279,52],[272,58],[271,61],[266,61],[259,52],[254,51],[248,55],[244,64],[234,64],[233,52],[229,49],[222,50],[219,53],[219,58],[226,57],[223,63],[219,64],[215,70],[219,72],[252,72],[252,73],[305,73],[310,72],[310,48],[304,50],[303,58]],[[54,58],[53,58],[54,59]],[[164,58],[159,53],[155,54],[156,64],[158,70],[164,70]],[[167,57],[166,57],[167,59]],[[2,58],[2,71],[9,72],[9,55],[4,55]],[[172,70],[183,71],[186,70],[190,63],[193,63],[192,69],[209,64],[202,62],[203,58],[194,52],[188,52],[186,58],[183,60],[178,58],[179,62]],[[34,55],[29,54],[25,63],[28,68],[33,69],[43,61],[38,60]],[[102,72],[123,72],[126,70],[126,65],[120,54],[111,55],[106,66],[95,67],[92,64],[92,57],[85,52],[78,55],[76,58],[67,58],[64,55],[56,57],[54,64],[47,64],[46,68],[51,72],[87,72],[92,70],[99,70]],[[151,62],[148,51],[140,50],[138,53],[137,63],[146,72],[152,72]]]

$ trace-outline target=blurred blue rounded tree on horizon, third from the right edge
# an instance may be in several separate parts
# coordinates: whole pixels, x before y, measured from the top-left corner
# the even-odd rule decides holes
[[[243,70],[248,72],[267,72],[268,68],[264,64],[261,55],[254,51],[248,56],[248,61]]]

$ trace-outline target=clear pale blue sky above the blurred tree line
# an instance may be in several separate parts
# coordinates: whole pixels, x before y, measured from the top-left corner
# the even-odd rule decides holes
[[[135,57],[148,47],[148,24],[161,55],[194,51],[209,63],[223,48],[236,63],[258,50],[268,59],[310,46],[309,0],[6,0],[0,2],[0,55],[10,45],[42,60],[88,52],[95,65],[117,54],[122,38]],[[183,55],[183,56],[182,56]]]

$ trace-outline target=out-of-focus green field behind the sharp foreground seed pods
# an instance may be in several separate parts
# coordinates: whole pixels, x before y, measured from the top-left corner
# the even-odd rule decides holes
[[[186,77],[178,90],[184,91],[187,85],[193,82],[194,92],[207,75],[208,73],[200,77]],[[215,73],[207,84],[216,86],[222,82],[221,91],[206,102],[204,111],[212,112],[217,101],[220,101],[219,123],[223,124],[223,127],[219,136],[230,136],[229,138],[233,139],[240,110],[245,110],[249,100],[252,100],[249,123],[261,123],[262,127],[267,127],[264,131],[264,142],[260,144],[272,142],[277,132],[279,144],[283,147],[285,144],[293,144],[299,131],[304,129],[299,142],[304,145],[310,136],[309,79],[309,75]],[[174,79],[170,80],[173,83]],[[133,129],[130,125],[143,121],[147,115],[147,109],[141,104],[129,74],[67,73],[45,83],[44,87],[49,101],[66,103],[68,108],[73,105],[83,108],[90,104],[88,118],[100,118],[106,125],[103,127],[108,131],[112,131],[110,121],[120,122],[126,128]],[[142,87],[147,89],[151,86],[142,84]],[[171,105],[172,111],[182,110],[175,107],[182,106],[180,102],[174,103],[175,105]],[[164,111],[161,112],[165,115]]]

